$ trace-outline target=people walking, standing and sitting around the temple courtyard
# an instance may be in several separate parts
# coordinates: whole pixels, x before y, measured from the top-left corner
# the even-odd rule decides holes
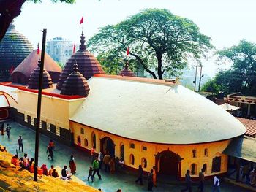
[[[10,130],[11,130],[11,127],[8,124],[5,130],[4,130],[4,123],[1,124],[0,126],[1,134],[4,134],[4,132],[7,132],[7,137],[10,138]],[[48,159],[50,158],[51,160],[53,160],[54,148],[55,148],[54,142],[52,139],[50,139],[50,142],[48,143],[48,147],[46,151],[47,153],[49,153]],[[23,152],[22,136],[18,137],[18,150],[19,151],[21,150]],[[99,152],[97,154],[95,153],[95,147],[91,148],[91,153],[89,158],[91,158],[91,166],[89,166],[87,180],[90,180],[91,178],[91,182],[94,182],[95,174],[97,174],[99,180],[102,179],[102,176],[100,174],[100,171],[102,171],[102,169],[104,169],[106,173],[114,174],[116,171],[123,169],[124,167],[123,158],[111,156],[110,153],[108,153],[108,151],[107,153],[105,153],[105,155],[103,155],[102,152]],[[24,153],[23,156],[20,158],[17,153],[12,157],[11,163],[14,164],[16,167],[21,167],[23,169],[27,169],[31,173],[34,173],[34,158],[29,158],[27,153]],[[104,168],[102,167],[102,165],[104,165]],[[47,165],[42,164],[41,167],[37,168],[37,172],[39,175],[60,177],[62,180],[71,180],[72,175],[75,174],[76,172],[74,155],[70,155],[69,169],[70,169],[70,172],[67,171],[67,166],[64,165],[63,169],[61,170],[61,176],[59,176],[59,173],[56,171],[53,165],[51,165],[50,169],[48,170]],[[241,169],[241,174],[242,174],[242,177],[241,177],[242,183],[247,183],[249,185],[256,187],[256,167],[253,168],[252,166],[249,166],[249,164],[245,164]],[[140,183],[140,185],[143,185],[145,180],[147,180],[148,191],[152,191],[154,187],[157,187],[157,170],[155,166],[153,166],[151,171],[147,173],[143,171],[143,166],[139,165],[138,177],[135,180],[135,183]],[[191,180],[189,170],[187,170],[187,173],[185,174],[185,182],[186,182],[186,188],[182,189],[181,191],[189,191],[189,192],[192,191],[192,183],[195,183],[195,182]],[[198,191],[201,191],[201,192],[204,191],[204,182],[205,182],[204,170],[201,169],[201,172],[199,173]],[[217,176],[214,177],[213,184],[214,184],[213,191],[219,191],[220,181]],[[118,191],[121,191],[121,189],[118,189]]]

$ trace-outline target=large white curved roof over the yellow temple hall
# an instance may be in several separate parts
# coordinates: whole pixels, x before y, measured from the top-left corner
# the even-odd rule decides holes
[[[111,134],[144,142],[192,144],[231,139],[246,131],[217,104],[181,85],[107,75],[88,82],[90,94],[70,120]]]

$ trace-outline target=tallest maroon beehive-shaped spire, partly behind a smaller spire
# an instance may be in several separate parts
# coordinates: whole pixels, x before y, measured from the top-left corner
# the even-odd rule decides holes
[[[83,74],[83,77],[85,77],[86,80],[91,78],[94,74],[105,74],[102,66],[99,64],[99,61],[97,61],[97,58],[95,58],[94,55],[86,50],[86,41],[83,35],[83,31],[80,38],[81,44],[79,50],[69,58],[61,72],[61,75],[59,76],[59,82],[57,84],[57,89],[59,90],[61,90],[62,85],[69,74],[72,73],[74,64],[78,64],[79,72]]]

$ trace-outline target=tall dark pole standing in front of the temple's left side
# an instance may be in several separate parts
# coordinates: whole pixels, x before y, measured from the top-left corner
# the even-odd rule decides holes
[[[42,72],[44,69],[45,62],[45,40],[46,40],[46,29],[42,31],[42,53],[41,53],[41,64],[39,73],[39,85],[38,85],[38,99],[37,99],[37,127],[36,127],[36,142],[34,150],[34,181],[37,181],[37,167],[38,167],[38,154],[39,154],[39,127],[40,127],[40,115],[41,115],[41,100],[42,100]]]

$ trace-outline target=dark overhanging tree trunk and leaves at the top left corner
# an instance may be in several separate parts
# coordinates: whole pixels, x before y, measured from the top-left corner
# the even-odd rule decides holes
[[[21,7],[26,1],[33,1],[34,3],[41,0],[0,0],[0,42],[4,34],[12,23],[12,20],[21,13]],[[75,0],[51,0],[53,3],[57,1],[73,4]]]

